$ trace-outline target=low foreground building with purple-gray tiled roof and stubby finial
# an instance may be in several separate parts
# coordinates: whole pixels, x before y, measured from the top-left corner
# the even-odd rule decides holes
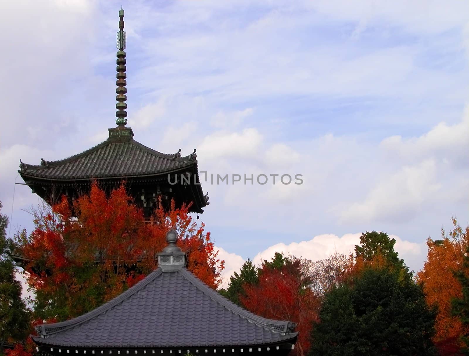
[[[40,355],[287,355],[295,323],[259,317],[186,269],[174,229],[159,267],[93,311],[36,326]]]

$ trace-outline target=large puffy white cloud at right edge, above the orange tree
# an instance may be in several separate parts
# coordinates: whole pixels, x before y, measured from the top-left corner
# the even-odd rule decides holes
[[[389,167],[376,172],[377,182],[363,200],[343,208],[341,221],[408,222],[430,206],[454,202],[467,185],[468,137],[468,108],[453,125],[440,122],[417,137],[387,137],[377,156],[382,152]],[[449,171],[453,173],[443,174]]]

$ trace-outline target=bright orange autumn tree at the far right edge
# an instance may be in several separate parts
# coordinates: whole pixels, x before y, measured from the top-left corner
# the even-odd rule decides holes
[[[462,229],[454,218],[452,222],[449,236],[442,229],[441,240],[427,240],[427,260],[416,276],[423,286],[427,303],[438,307],[433,338],[437,345],[450,341],[457,344],[459,336],[469,331],[451,314],[451,301],[462,297],[461,284],[454,272],[463,268],[464,254],[469,246],[469,227]]]

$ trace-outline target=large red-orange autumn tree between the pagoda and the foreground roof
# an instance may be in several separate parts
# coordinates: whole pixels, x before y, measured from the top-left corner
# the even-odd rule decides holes
[[[188,209],[172,202],[169,211],[157,209],[152,223],[145,224],[123,185],[106,195],[94,183],[72,206],[64,198],[36,212],[34,231],[16,239],[19,254],[29,260],[25,278],[36,295],[35,317],[74,318],[132,287],[157,267],[156,254],[172,227],[188,252],[189,271],[216,288],[224,261]]]

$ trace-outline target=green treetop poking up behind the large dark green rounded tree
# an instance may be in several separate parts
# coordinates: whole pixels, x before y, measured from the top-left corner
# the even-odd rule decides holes
[[[404,267],[404,260],[399,258],[394,251],[395,239],[390,239],[384,232],[367,231],[360,236],[360,245],[355,245],[356,259],[363,259],[364,262],[374,260],[381,256],[396,267]]]

